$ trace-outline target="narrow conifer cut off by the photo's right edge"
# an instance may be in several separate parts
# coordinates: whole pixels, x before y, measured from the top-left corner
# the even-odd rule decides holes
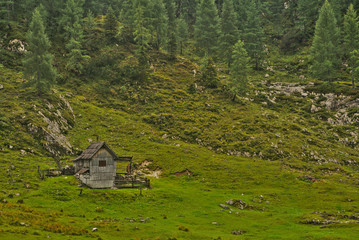
[[[359,49],[359,23],[357,12],[353,4],[350,4],[347,13],[344,16],[344,51],[349,57],[354,49]]]

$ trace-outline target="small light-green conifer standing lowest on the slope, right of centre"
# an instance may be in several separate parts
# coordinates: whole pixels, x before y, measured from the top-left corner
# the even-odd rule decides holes
[[[231,65],[230,88],[233,93],[233,101],[237,95],[244,95],[248,85],[249,60],[244,43],[239,40],[233,49],[233,63]]]

